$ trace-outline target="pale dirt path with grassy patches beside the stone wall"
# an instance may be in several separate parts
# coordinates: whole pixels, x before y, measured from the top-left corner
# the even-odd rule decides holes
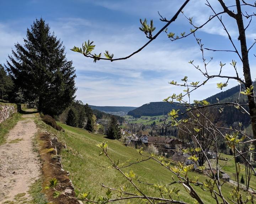
[[[34,117],[34,114],[22,115],[22,119],[9,132],[6,143],[0,146],[1,204],[7,200],[13,203],[30,200],[27,191],[40,175],[41,165],[32,143],[37,132]]]

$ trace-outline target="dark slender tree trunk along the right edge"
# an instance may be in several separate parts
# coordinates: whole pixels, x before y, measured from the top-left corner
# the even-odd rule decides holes
[[[242,11],[240,6],[240,0],[236,0],[236,8],[237,8],[237,15],[236,15],[236,23],[238,25],[239,30],[239,40],[241,46],[241,54],[242,54],[242,64],[243,64],[243,72],[245,78],[245,86],[250,87],[252,85],[251,79],[251,70],[249,65],[249,58],[248,58],[248,50],[246,45],[246,36],[245,36],[245,29],[244,29],[244,22],[242,18]],[[252,132],[254,135],[254,139],[256,139],[256,103],[255,98],[252,96],[248,96],[248,103],[249,103],[249,112],[251,118],[251,125],[252,125]],[[254,145],[256,146],[256,142],[254,141]]]

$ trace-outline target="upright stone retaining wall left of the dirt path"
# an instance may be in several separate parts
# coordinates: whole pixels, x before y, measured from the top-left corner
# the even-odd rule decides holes
[[[0,123],[11,117],[12,114],[21,112],[26,108],[26,104],[1,103],[0,102]]]

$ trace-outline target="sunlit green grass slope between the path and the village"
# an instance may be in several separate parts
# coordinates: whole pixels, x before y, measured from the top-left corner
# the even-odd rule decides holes
[[[128,159],[136,161],[140,158],[136,149],[125,147],[121,142],[116,140],[108,140],[102,135],[91,134],[85,130],[73,128],[62,123],[58,123],[65,132],[57,131],[48,125],[43,125],[48,131],[53,132],[60,140],[66,142],[67,149],[62,151],[63,168],[70,171],[70,179],[73,181],[76,193],[91,192],[96,197],[104,195],[105,188],[100,185],[104,183],[106,186],[118,188],[129,182],[117,171],[110,167],[111,163],[104,155],[99,155],[100,149],[95,145],[103,140],[108,141],[108,153],[113,160],[121,160],[125,162]],[[172,174],[154,161],[146,161],[140,164],[135,164],[130,168],[123,169],[124,172],[129,172],[132,169],[134,173],[140,176],[142,181],[149,183],[168,184],[172,182]],[[194,172],[190,172],[190,177],[201,176],[199,180],[203,181],[206,177]],[[176,179],[176,178],[175,178]],[[136,182],[136,181],[135,181]],[[136,182],[137,183],[137,182]],[[160,196],[156,189],[152,186],[146,186],[137,183],[139,188],[146,194]],[[188,203],[193,203],[188,193],[181,185],[177,185],[180,189],[180,197]],[[198,187],[194,187],[200,193],[201,198],[206,203],[214,203],[208,192],[203,192]],[[225,184],[222,186],[223,194],[227,198],[231,191],[231,186]],[[129,185],[127,191],[134,192],[134,188]],[[177,198],[174,198],[177,199]],[[122,202],[118,202],[122,203]],[[123,202],[127,203],[127,202]],[[132,200],[131,203],[137,203]]]

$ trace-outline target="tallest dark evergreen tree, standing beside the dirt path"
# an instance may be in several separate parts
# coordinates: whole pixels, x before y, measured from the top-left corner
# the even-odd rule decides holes
[[[40,18],[27,29],[24,46],[15,44],[17,51],[5,65],[27,101],[38,100],[38,111],[58,115],[74,100],[75,69],[67,61],[62,42],[50,33],[50,27]]]

